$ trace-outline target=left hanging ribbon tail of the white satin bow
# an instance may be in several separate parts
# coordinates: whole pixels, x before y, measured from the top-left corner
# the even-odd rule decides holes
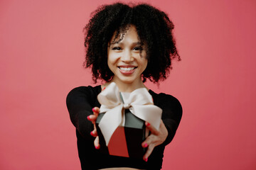
[[[109,144],[114,130],[116,130],[120,123],[122,123],[122,114],[120,114],[121,112],[122,105],[119,105],[115,108],[112,108],[110,111],[107,111],[100,120],[99,127],[102,135],[105,138],[106,145]]]

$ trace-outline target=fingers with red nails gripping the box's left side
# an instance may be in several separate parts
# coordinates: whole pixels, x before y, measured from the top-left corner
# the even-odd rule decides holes
[[[98,108],[98,107],[92,108],[92,112],[93,112],[93,115],[87,116],[87,119],[92,122],[93,127],[94,127],[94,130],[92,130],[92,132],[90,132],[90,135],[92,135],[93,137],[96,137],[95,141],[94,141],[94,145],[95,145],[96,149],[100,149],[99,136],[97,135],[97,129],[96,129],[96,120],[97,120],[97,116],[100,113],[100,108]]]

